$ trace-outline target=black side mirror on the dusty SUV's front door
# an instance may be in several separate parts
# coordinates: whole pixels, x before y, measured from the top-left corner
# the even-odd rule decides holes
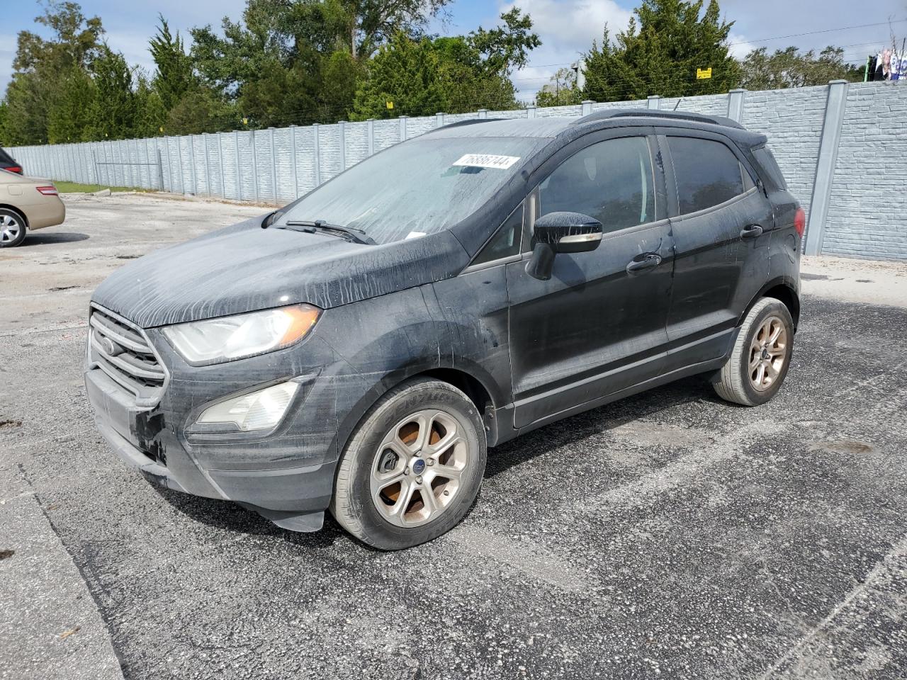
[[[601,222],[580,212],[550,212],[532,227],[532,259],[526,273],[540,281],[551,278],[558,253],[587,253],[601,243]]]

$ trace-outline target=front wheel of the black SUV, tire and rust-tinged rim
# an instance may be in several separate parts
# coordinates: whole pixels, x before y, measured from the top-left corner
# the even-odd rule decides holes
[[[436,539],[473,506],[486,455],[482,418],[469,397],[438,380],[408,381],[356,426],[337,464],[331,514],[377,549]]]

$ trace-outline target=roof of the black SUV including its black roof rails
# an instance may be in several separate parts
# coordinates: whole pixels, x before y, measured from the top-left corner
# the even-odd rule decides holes
[[[764,143],[765,137],[746,129],[737,121],[723,116],[692,112],[658,111],[655,109],[607,109],[588,115],[546,116],[541,118],[471,119],[444,125],[427,132],[433,137],[576,137],[579,134],[610,127],[652,125],[693,130],[720,128],[723,134],[750,146]],[[579,134],[578,134],[579,133]]]

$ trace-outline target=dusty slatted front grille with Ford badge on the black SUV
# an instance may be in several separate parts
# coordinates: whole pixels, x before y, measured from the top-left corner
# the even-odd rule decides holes
[[[97,306],[92,307],[88,323],[92,364],[133,393],[136,405],[150,407],[158,403],[167,373],[144,331]]]

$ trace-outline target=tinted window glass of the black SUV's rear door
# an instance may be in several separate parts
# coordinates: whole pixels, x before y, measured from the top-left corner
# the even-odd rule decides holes
[[[743,171],[720,141],[668,137],[678,183],[680,214],[711,208],[744,192]]]

